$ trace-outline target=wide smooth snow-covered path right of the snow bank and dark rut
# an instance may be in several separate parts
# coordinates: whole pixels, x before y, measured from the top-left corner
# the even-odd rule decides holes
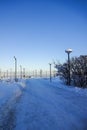
[[[15,130],[87,130],[87,96],[30,79],[15,114]]]

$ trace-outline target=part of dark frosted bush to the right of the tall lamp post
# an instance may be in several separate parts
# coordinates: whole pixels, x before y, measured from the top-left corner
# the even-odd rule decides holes
[[[87,87],[87,56],[71,59],[71,79],[75,86]]]

